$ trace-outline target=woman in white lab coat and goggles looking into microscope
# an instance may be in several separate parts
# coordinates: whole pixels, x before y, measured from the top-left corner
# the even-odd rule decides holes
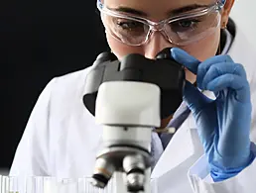
[[[154,58],[163,48],[172,48],[173,57],[187,67],[185,102],[162,120],[162,127],[180,129],[173,138],[152,136],[152,178],[159,192],[256,191],[254,51],[228,22],[233,2],[98,1],[108,44],[118,58],[132,52]],[[48,84],[10,175],[91,175],[102,129],[82,104],[88,70]],[[203,94],[192,86],[195,81]]]

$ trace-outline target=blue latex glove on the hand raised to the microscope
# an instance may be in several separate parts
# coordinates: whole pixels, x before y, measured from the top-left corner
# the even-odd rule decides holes
[[[197,87],[212,91],[216,100],[204,96],[187,81],[184,100],[192,110],[214,181],[230,178],[248,166],[255,155],[250,150],[252,104],[246,72],[229,55],[200,62],[180,48],[173,57],[196,74]]]

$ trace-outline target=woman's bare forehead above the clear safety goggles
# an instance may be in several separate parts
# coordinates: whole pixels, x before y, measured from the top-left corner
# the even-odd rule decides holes
[[[167,15],[180,14],[176,11],[192,11],[199,6],[213,4],[217,0],[103,0],[104,5],[119,11],[138,11],[141,16],[165,18]],[[129,10],[130,9],[130,10]]]

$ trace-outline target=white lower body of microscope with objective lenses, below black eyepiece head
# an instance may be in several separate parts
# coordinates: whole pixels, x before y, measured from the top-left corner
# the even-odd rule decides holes
[[[95,185],[104,187],[102,176],[106,182],[117,171],[124,175],[114,179],[119,180],[116,192],[150,192],[145,184],[150,184],[152,128],[161,123],[160,88],[144,82],[105,82],[98,90],[95,120],[103,125],[104,146],[95,163]]]

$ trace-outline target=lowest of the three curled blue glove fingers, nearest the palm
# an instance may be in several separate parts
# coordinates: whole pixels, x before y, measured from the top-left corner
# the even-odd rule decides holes
[[[206,85],[206,89],[218,93],[224,89],[233,89],[236,92],[234,96],[239,102],[248,102],[250,100],[250,87],[246,78],[236,74],[224,74],[216,77]]]

